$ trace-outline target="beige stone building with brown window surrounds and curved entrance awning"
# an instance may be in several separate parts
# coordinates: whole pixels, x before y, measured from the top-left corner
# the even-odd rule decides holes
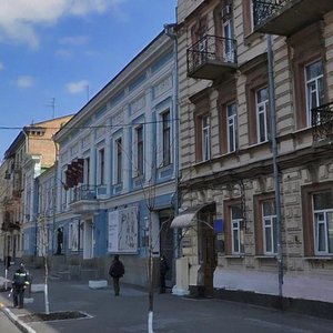
[[[175,293],[333,302],[332,40],[332,1],[178,1]]]

